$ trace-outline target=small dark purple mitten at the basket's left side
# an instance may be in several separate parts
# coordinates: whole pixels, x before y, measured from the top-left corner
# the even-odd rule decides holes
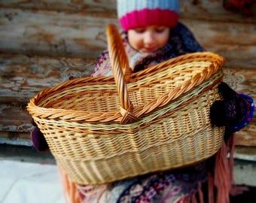
[[[32,144],[35,147],[35,150],[39,152],[49,150],[47,141],[45,140],[43,133],[41,133],[38,127],[35,127],[35,129],[32,130],[32,132],[30,133],[30,137],[32,140]]]

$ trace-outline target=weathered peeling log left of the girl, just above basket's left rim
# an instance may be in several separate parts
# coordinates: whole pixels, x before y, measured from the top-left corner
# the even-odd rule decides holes
[[[0,54],[0,102],[28,102],[50,86],[90,75],[96,59]]]

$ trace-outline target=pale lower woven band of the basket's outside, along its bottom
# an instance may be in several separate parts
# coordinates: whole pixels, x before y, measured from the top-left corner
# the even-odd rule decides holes
[[[184,167],[197,160],[207,159],[221,146],[223,132],[224,129],[210,129],[206,126],[206,129],[197,132],[197,135],[187,136],[184,141],[181,139],[166,142],[139,152],[122,153],[97,160],[83,161],[60,157],[56,157],[56,160],[76,183],[108,183],[138,174]],[[199,146],[198,143],[202,143],[201,147],[195,147]],[[212,145],[210,148],[204,147],[203,143]]]

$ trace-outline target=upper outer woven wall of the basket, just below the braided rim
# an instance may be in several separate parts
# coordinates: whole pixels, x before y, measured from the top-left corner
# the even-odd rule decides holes
[[[83,123],[61,123],[60,121],[55,120],[52,120],[50,123],[49,120],[40,118],[36,118],[36,120],[40,123],[41,131],[44,132],[48,144],[53,144],[53,152],[55,150],[59,152],[63,151],[65,152],[63,155],[67,156],[70,149],[70,154],[74,155],[74,157],[87,156],[93,158],[109,155],[111,152],[114,154],[119,153],[120,151],[130,150],[130,147],[133,147],[133,145],[127,145],[130,140],[132,141],[132,144],[133,141],[136,144],[141,143],[142,141],[151,141],[150,143],[146,143],[146,146],[151,146],[151,144],[157,143],[157,136],[153,136],[150,140],[145,137],[145,128],[150,125],[152,126],[153,124],[156,126],[160,125],[160,132],[156,132],[158,136],[166,135],[168,138],[172,139],[180,138],[182,135],[189,134],[190,132],[202,128],[206,123],[209,123],[209,118],[206,116],[209,115],[209,104],[219,98],[217,92],[211,91],[212,90],[209,90],[208,94],[201,95],[196,99],[190,99],[178,110],[175,109],[175,111],[169,112],[170,115],[165,114],[163,117],[154,120],[154,122],[145,119],[145,124],[139,126],[141,131],[137,128],[131,128],[132,125],[127,125],[117,126],[116,128],[120,129],[119,132],[117,130],[111,132],[111,129],[108,129],[108,133],[106,133],[103,131],[104,125],[102,126],[102,129],[100,125],[96,125],[97,129],[93,129],[92,125],[86,126]],[[165,120],[167,120],[167,122],[165,122]],[[114,129],[114,125],[109,124],[108,126],[113,126]],[[102,134],[100,134],[101,130]],[[156,131],[156,129],[150,128],[148,128],[148,130],[153,132]],[[138,131],[140,136],[134,136]],[[122,132],[125,135],[122,135]],[[112,136],[110,136],[110,134],[112,134]],[[118,135],[120,136],[118,137]],[[120,138],[120,140],[118,138]],[[83,146],[87,146],[87,148],[84,149]],[[113,146],[116,147],[114,148]],[[77,150],[80,151],[76,153]]]

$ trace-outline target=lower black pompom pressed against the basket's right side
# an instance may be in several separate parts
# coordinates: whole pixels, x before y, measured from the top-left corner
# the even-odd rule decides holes
[[[212,125],[226,126],[228,121],[225,112],[225,102],[221,100],[215,101],[210,108],[210,120]]]

